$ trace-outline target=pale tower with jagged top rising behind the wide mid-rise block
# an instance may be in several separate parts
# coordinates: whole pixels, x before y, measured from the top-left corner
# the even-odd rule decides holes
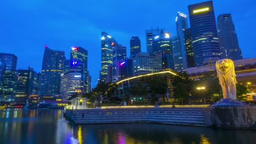
[[[157,35],[160,34],[161,31],[165,31],[165,29],[147,29],[145,30],[146,33],[146,48],[147,48],[147,53],[153,53],[153,40]]]

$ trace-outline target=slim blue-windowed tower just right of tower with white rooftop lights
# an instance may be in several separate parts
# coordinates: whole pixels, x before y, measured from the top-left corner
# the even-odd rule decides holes
[[[126,47],[113,45],[112,82],[115,83],[121,78],[121,64],[126,59]]]

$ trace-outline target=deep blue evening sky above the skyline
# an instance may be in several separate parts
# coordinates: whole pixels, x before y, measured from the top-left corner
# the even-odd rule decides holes
[[[41,72],[44,45],[65,51],[81,46],[88,50],[92,87],[101,69],[101,32],[127,46],[139,36],[146,52],[145,29],[165,28],[176,35],[178,11],[188,15],[188,5],[205,0],[2,0],[0,5],[0,53],[18,57],[17,69],[28,66]],[[231,13],[243,58],[256,57],[256,2],[213,0],[215,17]],[[188,19],[189,24],[189,19]]]

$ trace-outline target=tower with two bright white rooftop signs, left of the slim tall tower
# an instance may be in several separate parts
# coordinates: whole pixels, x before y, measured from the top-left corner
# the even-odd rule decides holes
[[[159,54],[163,61],[163,69],[174,69],[173,46],[170,32],[161,31],[153,39],[153,53]]]

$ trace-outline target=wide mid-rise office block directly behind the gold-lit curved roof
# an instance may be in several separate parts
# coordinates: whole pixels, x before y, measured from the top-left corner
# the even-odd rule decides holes
[[[132,61],[133,76],[163,70],[161,55],[157,53],[138,53]]]

